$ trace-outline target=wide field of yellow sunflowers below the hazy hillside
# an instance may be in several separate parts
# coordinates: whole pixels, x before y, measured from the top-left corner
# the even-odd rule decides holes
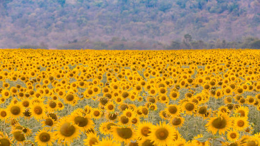
[[[0,146],[260,146],[260,50],[0,50]]]

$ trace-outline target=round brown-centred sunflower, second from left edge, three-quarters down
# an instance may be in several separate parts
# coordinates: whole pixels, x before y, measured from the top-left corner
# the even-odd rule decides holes
[[[11,118],[19,118],[23,112],[24,112],[24,109],[20,105],[20,103],[18,103],[18,104],[11,103],[7,107],[7,115],[9,115]]]

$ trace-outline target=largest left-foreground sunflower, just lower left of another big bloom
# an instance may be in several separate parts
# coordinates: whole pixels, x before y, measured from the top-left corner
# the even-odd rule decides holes
[[[58,144],[63,142],[63,145],[70,145],[75,138],[79,136],[79,127],[76,124],[69,122],[67,117],[60,119],[60,122],[55,127],[55,139],[58,140]]]

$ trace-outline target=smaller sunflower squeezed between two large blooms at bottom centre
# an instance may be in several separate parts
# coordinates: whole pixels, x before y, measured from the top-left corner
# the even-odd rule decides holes
[[[137,125],[136,134],[138,139],[143,139],[148,136],[149,133],[151,133],[151,128],[154,125],[150,122],[143,121],[140,124]]]

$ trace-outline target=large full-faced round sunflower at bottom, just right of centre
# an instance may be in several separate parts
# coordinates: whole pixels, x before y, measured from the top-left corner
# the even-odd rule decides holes
[[[166,146],[173,142],[174,130],[165,122],[151,128],[151,133],[148,134],[148,139],[156,146]]]

